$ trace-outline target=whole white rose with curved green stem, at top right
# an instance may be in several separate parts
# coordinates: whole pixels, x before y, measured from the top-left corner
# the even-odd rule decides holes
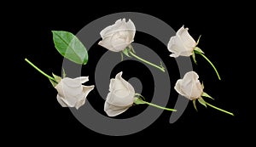
[[[201,37],[201,36],[200,36]],[[216,72],[218,79],[220,80],[220,76],[216,67],[212,64],[210,59],[208,59],[201,48],[198,48],[197,45],[200,41],[200,37],[197,42],[195,42],[194,38],[189,35],[189,28],[184,28],[182,26],[176,33],[176,36],[171,37],[170,41],[167,44],[167,48],[172,54],[171,57],[177,58],[178,56],[186,56],[189,57],[192,55],[192,58],[196,64],[195,54],[200,54],[204,59],[207,59],[207,62],[212,65],[212,68]]]

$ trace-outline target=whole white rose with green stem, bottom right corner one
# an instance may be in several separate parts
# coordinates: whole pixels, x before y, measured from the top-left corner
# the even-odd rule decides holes
[[[220,109],[214,105],[211,105],[207,103],[204,99],[202,99],[202,97],[206,97],[210,99],[213,99],[213,98],[207,93],[203,92],[204,86],[203,84],[201,84],[198,78],[199,76],[195,71],[189,71],[183,76],[182,79],[177,80],[174,89],[177,91],[177,93],[183,95],[185,98],[189,100],[193,100],[193,105],[195,107],[195,110],[197,110],[195,105],[195,100],[197,99],[201,105],[204,105],[206,107],[207,105],[209,105],[216,110],[221,110],[224,113],[234,116],[233,113],[227,110]]]

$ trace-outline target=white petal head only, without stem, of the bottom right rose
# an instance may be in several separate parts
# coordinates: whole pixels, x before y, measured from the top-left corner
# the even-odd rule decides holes
[[[198,78],[195,71],[189,71],[183,76],[183,79],[177,80],[174,89],[190,100],[199,99],[203,88]]]

